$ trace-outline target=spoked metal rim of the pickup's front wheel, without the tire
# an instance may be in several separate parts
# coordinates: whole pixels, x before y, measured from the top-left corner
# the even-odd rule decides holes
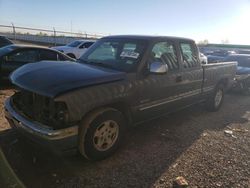
[[[99,151],[106,151],[116,142],[119,126],[113,120],[102,122],[96,129],[93,137],[94,147]]]

